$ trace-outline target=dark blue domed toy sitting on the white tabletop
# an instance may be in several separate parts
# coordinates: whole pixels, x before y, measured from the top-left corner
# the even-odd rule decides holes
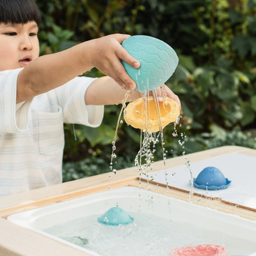
[[[225,189],[230,184],[231,180],[225,179],[223,173],[218,168],[212,166],[204,168],[198,177],[194,179],[194,186],[196,188],[207,190]]]

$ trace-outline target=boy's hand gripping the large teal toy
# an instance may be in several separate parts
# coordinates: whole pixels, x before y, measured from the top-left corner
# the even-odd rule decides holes
[[[134,59],[121,45],[129,36],[115,34],[91,40],[90,62],[100,72],[112,77],[123,89],[134,90],[136,83],[129,77],[121,63],[121,60],[124,60],[134,68],[140,67],[140,62]]]

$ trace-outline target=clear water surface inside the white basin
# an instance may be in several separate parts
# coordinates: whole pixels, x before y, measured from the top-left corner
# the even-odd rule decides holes
[[[170,221],[151,214],[128,212],[135,219],[127,226],[108,227],[97,222],[95,215],[78,218],[44,232],[104,256],[166,256],[173,248],[188,244],[218,244],[228,255],[248,255],[250,243],[219,230],[196,227],[196,223]],[[247,248],[248,250],[244,250]]]

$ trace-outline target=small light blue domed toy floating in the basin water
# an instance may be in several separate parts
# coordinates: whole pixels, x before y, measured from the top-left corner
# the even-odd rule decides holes
[[[113,207],[98,218],[98,222],[106,226],[118,226],[120,224],[129,225],[133,221],[134,218],[131,218],[131,216],[120,207]]]

